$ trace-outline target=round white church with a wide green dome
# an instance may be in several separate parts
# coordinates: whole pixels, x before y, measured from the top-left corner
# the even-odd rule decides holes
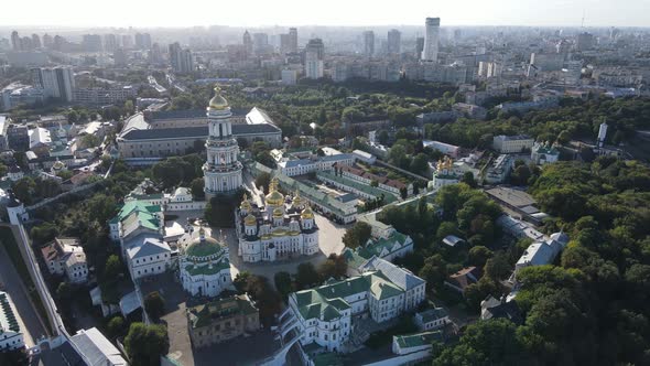
[[[228,246],[217,241],[199,228],[178,240],[182,252],[178,262],[183,289],[196,297],[217,297],[225,289],[231,288],[230,260]]]

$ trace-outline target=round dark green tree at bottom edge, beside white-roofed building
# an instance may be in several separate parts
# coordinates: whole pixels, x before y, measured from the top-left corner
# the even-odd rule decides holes
[[[124,348],[134,366],[160,365],[160,356],[166,355],[170,349],[167,330],[160,324],[131,323]]]

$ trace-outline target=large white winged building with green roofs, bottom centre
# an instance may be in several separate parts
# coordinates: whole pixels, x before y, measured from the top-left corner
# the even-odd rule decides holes
[[[383,323],[424,300],[426,283],[408,270],[378,258],[366,269],[361,276],[291,293],[289,309],[280,316],[281,335],[295,330],[303,346],[348,352],[359,319]]]

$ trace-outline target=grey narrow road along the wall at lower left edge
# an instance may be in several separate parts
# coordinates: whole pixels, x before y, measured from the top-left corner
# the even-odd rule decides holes
[[[2,245],[0,245],[0,281],[3,286],[2,291],[9,293],[18,311],[18,323],[23,332],[25,345],[34,346],[35,341],[46,333],[32,306],[26,288]]]

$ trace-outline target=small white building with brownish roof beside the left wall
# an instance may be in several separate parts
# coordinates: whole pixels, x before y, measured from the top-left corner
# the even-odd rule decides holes
[[[88,280],[86,254],[76,238],[54,238],[41,248],[43,260],[52,274],[64,274],[72,283]]]

